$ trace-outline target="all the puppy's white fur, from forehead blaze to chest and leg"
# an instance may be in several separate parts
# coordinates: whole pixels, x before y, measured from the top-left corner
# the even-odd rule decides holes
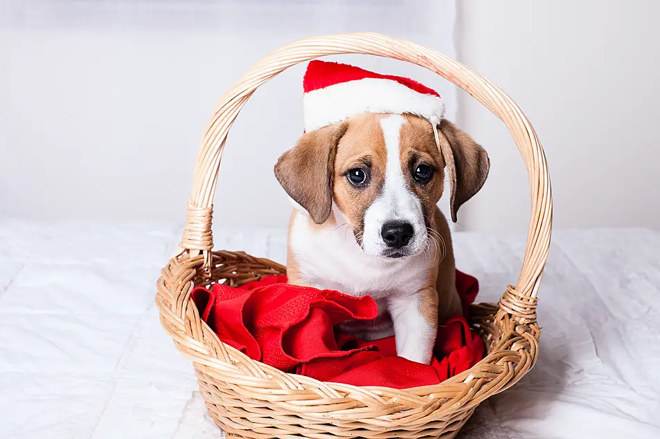
[[[387,148],[384,191],[366,212],[364,250],[355,241],[346,216],[333,203],[332,212],[337,220],[334,226],[311,225],[306,212],[296,212],[289,233],[289,252],[294,254],[306,283],[357,297],[370,295],[381,313],[387,311],[391,315],[393,327],[378,324],[360,330],[358,326],[357,330],[351,328],[355,335],[376,339],[395,334],[398,355],[428,364],[437,328],[420,314],[420,290],[429,278],[429,270],[437,268],[434,251],[426,246],[427,231],[420,201],[407,188],[402,175],[399,133],[403,124],[400,115],[382,118]],[[382,243],[380,227],[391,219],[413,224],[415,237],[409,245],[418,249],[414,256],[391,259],[378,252],[375,234]],[[366,250],[367,238],[371,251]]]

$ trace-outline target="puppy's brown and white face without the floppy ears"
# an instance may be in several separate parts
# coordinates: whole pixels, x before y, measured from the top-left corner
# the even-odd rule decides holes
[[[398,258],[426,247],[444,167],[426,120],[398,114],[349,120],[337,144],[332,192],[364,252]]]

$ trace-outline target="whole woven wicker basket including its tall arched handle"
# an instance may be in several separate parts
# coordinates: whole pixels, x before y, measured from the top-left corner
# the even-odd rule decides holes
[[[428,68],[470,93],[508,127],[528,169],[532,215],[525,259],[515,286],[498,305],[472,308],[472,324],[488,353],[470,370],[415,389],[357,387],[283,373],[220,342],[190,301],[195,286],[232,286],[285,267],[243,252],[212,251],[213,196],[227,133],[256,88],[289,66],[324,55],[362,53]],[[543,149],[518,106],[497,86],[440,53],[373,33],[307,38],[274,51],[245,73],[215,109],[199,151],[181,252],[157,283],[161,324],[193,359],[211,418],[243,438],[453,438],[475,407],[515,384],[537,359],[537,292],[552,221]]]

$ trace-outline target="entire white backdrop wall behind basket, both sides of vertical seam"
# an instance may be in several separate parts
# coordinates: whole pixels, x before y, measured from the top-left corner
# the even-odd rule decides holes
[[[224,90],[288,41],[371,30],[457,57],[513,97],[546,149],[555,225],[660,229],[659,15],[654,0],[3,0],[0,215],[182,221]],[[459,221],[526,229],[526,172],[497,118],[416,66],[339,59],[437,88],[492,160]],[[302,130],[303,68],[238,118],[216,225],[285,225],[272,165]]]

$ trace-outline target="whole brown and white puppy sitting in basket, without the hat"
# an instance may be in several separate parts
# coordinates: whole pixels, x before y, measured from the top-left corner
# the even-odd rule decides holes
[[[341,330],[396,336],[398,355],[429,364],[438,321],[461,313],[447,219],[436,207],[447,181],[452,219],[481,189],[484,149],[447,120],[362,113],[305,133],[275,166],[294,201],[289,283],[370,295],[379,316]]]

